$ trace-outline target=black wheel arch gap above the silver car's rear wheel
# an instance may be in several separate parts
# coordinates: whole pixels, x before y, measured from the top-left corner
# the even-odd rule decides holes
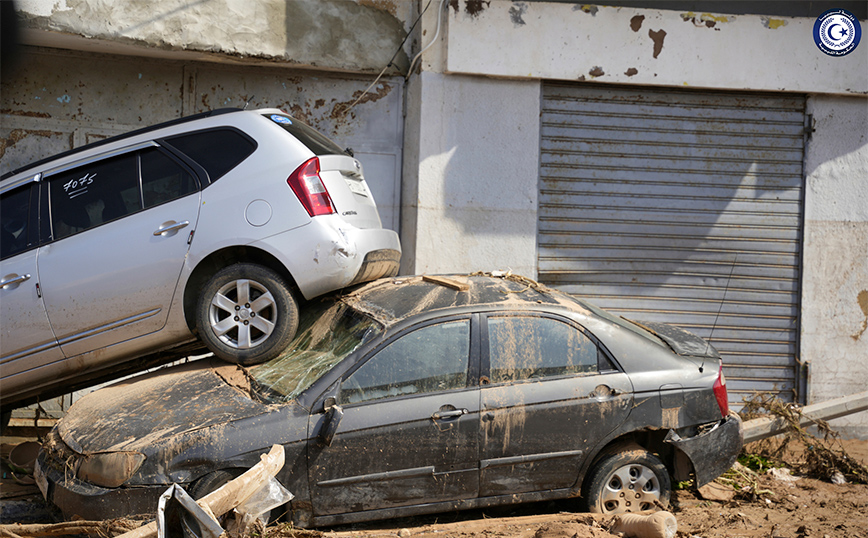
[[[220,269],[244,262],[256,263],[275,271],[289,285],[296,302],[300,303],[304,300],[304,296],[300,293],[295,278],[274,255],[255,247],[226,247],[214,251],[203,258],[193,269],[190,278],[187,279],[187,283],[184,286],[184,320],[193,334],[198,334],[196,329],[196,301],[199,298],[202,287]]]

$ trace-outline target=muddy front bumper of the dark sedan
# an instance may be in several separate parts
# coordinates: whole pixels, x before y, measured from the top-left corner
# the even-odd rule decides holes
[[[45,464],[45,453],[36,461],[34,473],[45,499],[70,519],[102,521],[137,514],[155,514],[157,501],[168,485],[101,488],[78,480]],[[41,482],[41,483],[39,483]]]

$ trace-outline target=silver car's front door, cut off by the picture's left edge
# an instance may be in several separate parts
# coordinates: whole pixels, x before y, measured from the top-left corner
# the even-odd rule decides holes
[[[38,369],[63,358],[45,314],[37,267],[35,182],[0,195],[0,394],[31,389]]]

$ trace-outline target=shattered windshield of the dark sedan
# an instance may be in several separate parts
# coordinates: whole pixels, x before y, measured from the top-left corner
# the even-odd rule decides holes
[[[298,333],[280,356],[250,373],[264,397],[286,402],[382,330],[379,322],[341,301],[323,301],[301,314]]]

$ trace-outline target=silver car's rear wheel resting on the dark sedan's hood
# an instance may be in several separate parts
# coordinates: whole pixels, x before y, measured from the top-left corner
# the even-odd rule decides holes
[[[196,307],[196,328],[223,360],[249,366],[273,359],[298,329],[298,304],[276,272],[252,263],[218,271]]]

